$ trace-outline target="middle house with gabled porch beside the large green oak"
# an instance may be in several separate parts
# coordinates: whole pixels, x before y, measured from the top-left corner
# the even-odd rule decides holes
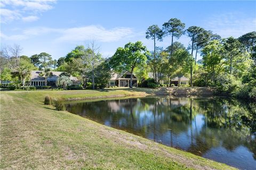
[[[108,81],[108,86],[117,86],[117,87],[129,87],[132,76],[132,86],[138,87],[138,79],[134,74],[131,74],[129,71],[125,71],[121,74],[114,73],[111,79]]]

